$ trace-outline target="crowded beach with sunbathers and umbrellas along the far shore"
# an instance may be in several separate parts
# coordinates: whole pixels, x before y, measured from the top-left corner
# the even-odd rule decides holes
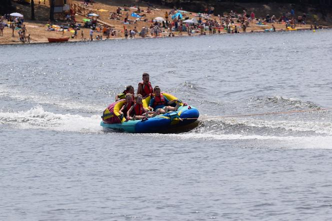
[[[0,16],[0,44],[37,43],[64,38],[69,41],[91,41],[323,28],[312,22],[313,15],[296,13],[293,8],[282,14],[258,17],[255,11],[230,10],[215,14],[214,8],[208,7],[204,12],[190,12],[182,7],[165,8],[143,1],[121,6],[91,0],[72,2],[71,5],[75,7],[68,7],[64,13],[56,14],[53,21],[42,21],[42,17],[38,21],[26,20],[25,17],[29,16],[26,10],[3,14]],[[78,13],[76,6],[93,12]]]

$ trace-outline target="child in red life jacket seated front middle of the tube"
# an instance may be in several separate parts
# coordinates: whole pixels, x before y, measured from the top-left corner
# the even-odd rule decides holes
[[[156,115],[155,112],[149,111],[148,109],[144,108],[142,104],[142,95],[138,94],[136,96],[136,102],[134,105],[132,105],[128,111],[127,111],[127,117],[126,119],[143,119],[146,120],[149,117],[153,117]]]

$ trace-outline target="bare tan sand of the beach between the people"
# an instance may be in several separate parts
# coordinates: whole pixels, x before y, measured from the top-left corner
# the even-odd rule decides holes
[[[81,1],[72,1],[72,3],[81,3]],[[140,20],[136,20],[135,21],[135,17],[131,16],[132,12],[135,12],[137,9],[134,7],[130,7],[133,6],[133,3],[136,3],[135,5],[139,5],[141,13],[139,14],[144,14],[145,16],[143,19]],[[89,31],[90,28],[84,28],[82,27],[84,25],[83,19],[86,19],[86,17],[83,17],[81,15],[75,14],[75,20],[76,23],[79,23],[81,25],[81,27],[79,28],[79,30],[77,30],[77,37],[72,38],[73,32],[67,31],[67,29],[65,29],[64,32],[62,31],[58,31],[58,29],[56,29],[55,31],[49,31],[47,30],[47,18],[48,18],[48,14],[47,12],[49,11],[49,3],[46,0],[45,4],[35,4],[35,14],[36,14],[36,20],[30,20],[30,7],[29,5],[21,5],[21,4],[17,4],[17,3],[13,3],[14,6],[16,6],[16,9],[18,12],[21,12],[24,15],[24,24],[26,27],[26,36],[28,34],[30,34],[30,43],[43,43],[43,42],[48,42],[47,38],[48,37],[53,37],[53,38],[57,38],[57,37],[62,37],[62,36],[67,36],[70,37],[69,41],[82,41],[82,40],[89,40]],[[129,5],[128,6],[128,10],[124,11],[123,10],[123,5]],[[96,11],[98,11],[98,15],[99,15],[99,19],[111,24],[113,26],[113,30],[115,31],[115,36],[109,36],[109,39],[121,39],[124,38],[124,29],[129,30],[133,30],[136,29],[137,32],[139,32],[143,27],[149,27],[152,23],[153,23],[153,19],[155,17],[165,17],[165,11],[167,11],[167,13],[169,13],[171,11],[171,8],[169,7],[165,7],[162,5],[154,5],[155,8],[151,8],[149,12],[148,11],[148,6],[146,5],[145,2],[134,2],[134,1],[106,1],[106,0],[97,0],[95,1],[93,4],[89,4],[88,7],[91,7],[93,9],[95,9]],[[120,7],[122,10],[120,11],[120,13],[118,14],[118,19],[110,19],[110,12],[114,12],[114,14],[116,13],[116,9]],[[137,6],[136,6],[137,7]],[[126,15],[126,13],[129,14],[128,19],[132,20],[132,23],[130,22],[129,24],[127,23],[123,23],[123,19]],[[250,12],[248,12],[250,13]],[[186,11],[183,14],[183,17],[186,18],[197,18],[197,12],[193,12],[193,11]],[[171,15],[169,15],[170,17]],[[68,21],[65,21],[63,19],[63,17],[59,17],[58,15],[55,16],[55,21],[51,22],[54,25],[68,25]],[[220,17],[218,17],[217,15],[211,15],[208,17],[209,20],[216,20],[218,23],[220,23]],[[171,20],[171,19],[169,19]],[[183,19],[182,19],[183,20]],[[6,21],[6,20],[5,20]],[[204,20],[203,20],[204,21]],[[231,32],[234,32],[234,27],[236,26],[238,33],[243,32],[243,29],[241,28],[241,23],[239,23],[236,18],[233,19],[234,24],[231,25]],[[273,22],[273,23],[264,23],[264,24],[256,24],[258,20],[253,20],[251,22],[249,22],[249,25],[246,27],[245,32],[260,32],[260,31],[272,31],[272,25],[274,25],[275,27],[275,31],[289,31],[286,27],[285,27],[285,23],[280,23],[280,22]],[[134,22],[134,23],[133,23]],[[312,28],[312,26],[310,27],[310,25],[312,24],[311,21],[308,21],[307,24],[297,24],[296,27],[294,29],[296,30],[302,30],[302,29],[310,29]],[[9,22],[8,22],[9,25]],[[184,25],[184,24],[183,24]],[[101,28],[104,26],[101,26]],[[328,27],[328,26],[323,26],[324,28]],[[100,28],[100,29],[101,29]],[[98,28],[97,28],[98,29]],[[99,30],[99,29],[98,29]],[[169,32],[170,29],[169,28],[160,28],[160,31],[157,34],[157,37],[168,37],[169,36]],[[14,36],[12,36],[12,30],[11,28],[9,28],[8,26],[4,27],[3,29],[3,36],[0,36],[0,44],[16,44],[16,43],[24,43],[21,42],[19,40],[19,36],[18,36],[18,32],[19,29],[16,28],[14,30]],[[292,30],[293,31],[293,30]],[[204,30],[204,32],[208,35],[209,30],[208,30],[208,26],[207,29]],[[82,37],[82,33],[83,33],[83,37]],[[179,31],[175,30],[172,31],[172,33],[174,34],[174,36],[179,36],[179,35],[188,35],[187,31],[182,31],[181,33],[179,33]],[[226,29],[221,28],[220,31],[218,31],[218,29],[216,29],[215,34],[223,34],[223,33],[227,33]],[[202,34],[202,32],[200,32],[199,28],[193,29],[192,30],[192,34],[190,35],[199,35]],[[214,34],[214,33],[213,33]],[[102,34],[102,31],[97,31],[97,30],[93,30],[93,40],[95,40],[96,36],[102,36],[102,39],[105,39],[106,36]],[[150,31],[148,31],[148,33],[146,34],[146,37],[152,37]],[[155,37],[155,35],[154,35]],[[129,37],[128,37],[129,38]],[[133,38],[140,38],[140,36],[138,36],[138,33],[136,33],[134,35]],[[26,43],[26,42],[25,42]]]

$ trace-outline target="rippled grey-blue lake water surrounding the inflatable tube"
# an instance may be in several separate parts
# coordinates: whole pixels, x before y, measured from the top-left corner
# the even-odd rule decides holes
[[[332,31],[0,45],[1,220],[330,220]],[[142,72],[189,132],[105,132]],[[211,118],[214,117],[214,118]]]

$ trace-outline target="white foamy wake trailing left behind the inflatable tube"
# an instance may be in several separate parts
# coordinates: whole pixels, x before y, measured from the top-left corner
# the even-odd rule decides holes
[[[36,106],[27,111],[0,112],[0,124],[11,124],[16,128],[48,129],[99,133],[102,131],[99,115],[85,117],[77,114],[60,114],[45,111]]]

